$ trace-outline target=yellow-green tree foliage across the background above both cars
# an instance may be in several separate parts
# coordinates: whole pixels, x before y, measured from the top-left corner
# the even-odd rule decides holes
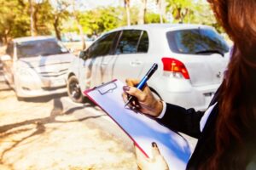
[[[34,19],[38,35],[55,34],[60,37],[61,32],[79,32],[81,25],[84,33],[91,36],[127,24],[125,7],[95,8],[86,11],[82,10],[82,6],[87,5],[85,1],[82,3],[79,0],[41,0],[35,3],[36,0],[32,0],[32,2],[36,11]],[[7,41],[11,37],[30,36],[29,1],[0,0],[0,5],[0,41]],[[73,10],[70,10],[72,6]],[[131,25],[138,23],[139,8],[142,7],[130,7]],[[166,0],[166,13],[172,14],[173,23],[204,24],[223,31],[218,26],[212,9],[204,0]],[[145,23],[160,23],[160,14],[147,12]]]

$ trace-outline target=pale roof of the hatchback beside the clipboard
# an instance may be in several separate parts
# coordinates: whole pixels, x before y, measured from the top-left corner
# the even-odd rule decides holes
[[[204,26],[204,25],[196,25],[196,24],[146,24],[146,25],[135,25],[135,26],[123,26],[113,31],[121,31],[121,30],[184,30],[184,29],[193,29],[193,28],[212,28],[211,26]],[[111,31],[112,32],[112,31]],[[107,32],[106,32],[107,33]]]

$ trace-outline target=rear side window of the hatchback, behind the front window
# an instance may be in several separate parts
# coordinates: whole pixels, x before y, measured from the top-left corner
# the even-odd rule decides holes
[[[115,54],[133,54],[137,53],[138,41],[142,31],[125,30],[119,40]]]

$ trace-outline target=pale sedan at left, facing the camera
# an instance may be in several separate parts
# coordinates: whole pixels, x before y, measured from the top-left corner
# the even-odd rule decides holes
[[[67,92],[65,78],[74,58],[55,37],[16,38],[1,57],[18,99]]]

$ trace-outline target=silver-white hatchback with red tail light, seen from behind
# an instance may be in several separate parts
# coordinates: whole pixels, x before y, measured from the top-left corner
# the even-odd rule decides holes
[[[83,92],[115,78],[141,79],[158,63],[148,81],[166,102],[205,110],[223,80],[229,47],[210,26],[151,24],[109,31],[78,59],[68,73],[67,93],[81,102]]]

